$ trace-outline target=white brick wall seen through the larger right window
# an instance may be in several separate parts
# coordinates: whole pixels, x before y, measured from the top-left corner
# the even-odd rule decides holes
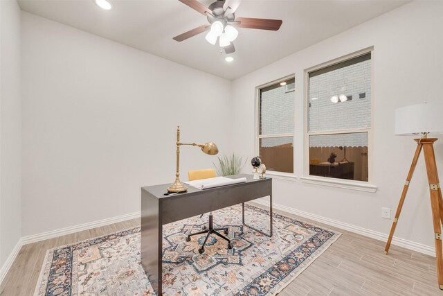
[[[332,103],[331,97],[340,94],[352,99]],[[361,94],[365,97],[360,98]],[[309,78],[309,132],[369,128],[371,97],[371,60]],[[352,139],[350,136],[344,139],[342,135],[341,146],[368,146],[367,137],[353,134]],[[337,140],[317,137],[309,146],[337,146]]]

